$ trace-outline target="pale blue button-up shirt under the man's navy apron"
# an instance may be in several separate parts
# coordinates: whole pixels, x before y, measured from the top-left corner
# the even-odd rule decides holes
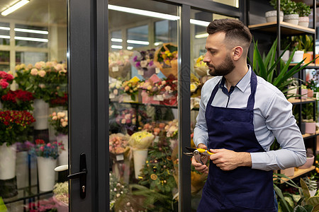
[[[250,76],[252,69],[237,83],[235,89],[228,95],[219,88],[212,106],[246,108],[250,96]],[[208,146],[208,132],[205,119],[206,105],[213,88],[221,80],[216,76],[206,81],[201,89],[201,102],[194,129],[194,143]],[[224,85],[220,85],[224,86]],[[292,114],[292,105],[281,91],[257,76],[257,90],[254,97],[254,134],[264,151],[250,153],[252,168],[259,170],[278,170],[288,167],[298,167],[306,163],[306,149],[303,137]],[[231,130],[231,129],[230,129]],[[269,151],[276,137],[280,149]]]

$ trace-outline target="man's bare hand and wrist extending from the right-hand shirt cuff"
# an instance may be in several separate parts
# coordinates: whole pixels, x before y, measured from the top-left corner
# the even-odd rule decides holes
[[[252,166],[252,158],[250,153],[237,153],[235,151],[230,151],[225,148],[221,149],[210,149],[212,153],[210,159],[220,167],[221,170],[230,171],[235,170],[239,166]],[[192,163],[193,164],[193,163]]]

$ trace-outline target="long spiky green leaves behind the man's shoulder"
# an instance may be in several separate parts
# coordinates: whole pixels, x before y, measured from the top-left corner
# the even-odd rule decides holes
[[[286,98],[290,98],[291,96],[288,95],[288,86],[293,82],[293,75],[301,71],[302,69],[305,69],[308,64],[313,62],[310,61],[308,64],[305,64],[301,66],[303,61],[300,61],[296,66],[293,66],[293,68],[290,69],[289,64],[291,63],[291,60],[293,59],[293,54],[296,52],[296,47],[293,49],[293,52],[291,52],[291,55],[286,62],[281,59],[281,57],[284,55],[284,52],[289,48],[286,47],[284,49],[284,52],[282,52],[279,56],[279,58],[276,59],[276,47],[277,47],[277,39],[274,41],[272,47],[269,49],[269,52],[267,54],[261,54],[258,49],[258,42],[254,42],[254,54],[253,54],[253,60],[250,61],[248,58],[248,61],[250,61],[250,64],[252,64],[252,69],[257,74],[257,76],[260,76],[264,78],[264,80],[268,81],[269,83],[272,83],[272,85],[276,86],[279,90],[281,90],[282,93],[286,96]],[[277,69],[277,66],[280,66],[280,69]]]

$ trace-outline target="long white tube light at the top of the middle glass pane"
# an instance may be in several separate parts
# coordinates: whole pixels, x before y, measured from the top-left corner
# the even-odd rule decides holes
[[[179,20],[179,16],[172,16],[172,15],[168,15],[165,13],[145,11],[145,10],[140,10],[140,9],[135,9],[135,8],[128,8],[128,7],[124,7],[124,6],[115,6],[115,5],[108,4],[108,8],[110,10],[113,10],[113,11],[133,13],[133,14],[138,14],[141,16],[150,16],[150,17],[154,17],[154,18],[162,18],[162,19],[167,19],[167,20]]]

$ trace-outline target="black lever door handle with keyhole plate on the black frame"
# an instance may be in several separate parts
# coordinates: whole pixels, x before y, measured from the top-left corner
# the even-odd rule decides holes
[[[77,173],[72,175],[68,175],[67,179],[77,179],[79,178],[79,186],[80,186],[80,197],[84,199],[86,196],[86,155],[85,153],[80,154],[80,170]]]

